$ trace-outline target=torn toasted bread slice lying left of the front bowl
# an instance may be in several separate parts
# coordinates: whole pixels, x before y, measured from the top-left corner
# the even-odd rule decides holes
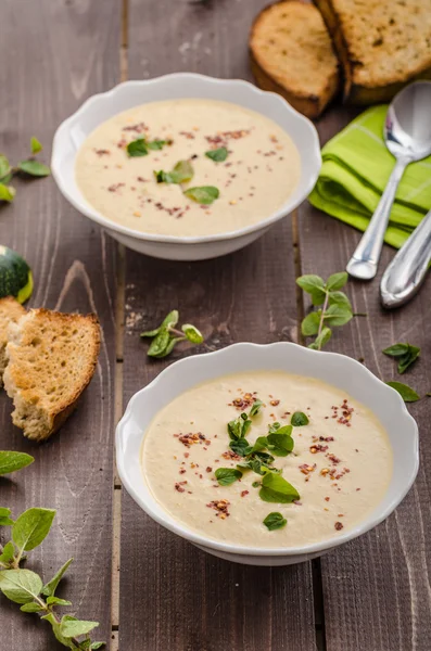
[[[13,398],[14,425],[35,441],[56,432],[76,407],[98,361],[94,315],[31,309],[9,327],[4,387]]]

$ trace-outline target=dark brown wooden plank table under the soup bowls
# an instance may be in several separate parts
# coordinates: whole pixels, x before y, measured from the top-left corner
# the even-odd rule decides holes
[[[59,123],[94,92],[127,78],[175,71],[250,79],[246,39],[266,0],[3,0],[0,15],[0,151],[27,153],[30,136],[48,159]],[[325,141],[350,119],[331,110]],[[123,405],[176,350],[149,362],[139,332],[173,307],[202,328],[206,344],[297,341],[307,305],[295,276],[342,270],[358,233],[304,204],[248,248],[217,260],[176,264],[124,251],[76,213],[52,179],[20,182],[0,209],[0,242],[30,263],[31,306],[94,311],[103,326],[96,376],[80,409],[38,447],[12,427],[0,399],[2,449],[36,462],[1,480],[1,506],[58,509],[31,566],[48,576],[75,563],[63,595],[101,639],[121,651],[428,651],[431,648],[430,403],[411,407],[421,426],[421,468],[408,497],[385,523],[321,560],[291,567],[248,567],[210,557],[147,518],[122,490],[113,436]],[[393,252],[386,248],[383,264]],[[409,375],[431,390],[430,282],[407,307],[383,312],[378,281],[351,282],[355,318],[331,340],[390,380],[381,354],[394,342],[421,346]],[[0,599],[1,649],[56,650],[49,626]]]

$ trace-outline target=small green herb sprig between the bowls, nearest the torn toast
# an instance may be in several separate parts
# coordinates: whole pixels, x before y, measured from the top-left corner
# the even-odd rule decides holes
[[[165,317],[159,328],[141,332],[141,337],[152,337],[147,355],[149,357],[166,357],[173,352],[176,344],[183,341],[189,341],[192,344],[202,344],[202,333],[191,323],[181,326],[181,330],[177,330],[176,326],[179,320],[179,312],[173,309]]]

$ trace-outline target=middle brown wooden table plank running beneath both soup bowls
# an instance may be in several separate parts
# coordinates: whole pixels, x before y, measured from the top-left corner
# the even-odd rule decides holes
[[[246,37],[265,2],[132,1],[129,76],[180,69],[250,78]],[[296,335],[291,222],[231,256],[195,264],[126,255],[125,400],[165,363],[139,332],[173,307],[202,328],[205,349]],[[198,352],[176,350],[168,361]],[[256,569],[217,560],[173,536],[123,496],[119,649],[315,649],[309,563]]]

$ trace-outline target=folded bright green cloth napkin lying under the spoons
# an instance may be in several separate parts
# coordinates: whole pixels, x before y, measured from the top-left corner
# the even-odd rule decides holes
[[[386,105],[354,119],[321,150],[322,167],[309,202],[364,231],[377,208],[395,158],[383,141]],[[407,166],[384,240],[397,248],[431,208],[431,156]]]

